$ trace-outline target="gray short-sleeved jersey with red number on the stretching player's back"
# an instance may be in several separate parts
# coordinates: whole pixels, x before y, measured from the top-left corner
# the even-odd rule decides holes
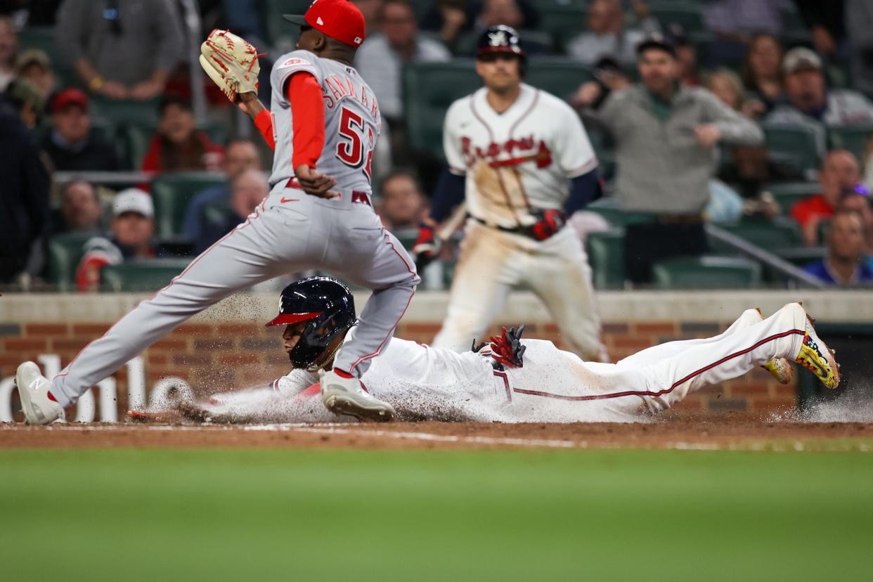
[[[296,72],[311,73],[321,86],[325,145],[318,161],[319,172],[336,178],[337,190],[371,192],[373,149],[382,129],[375,93],[351,65],[317,57],[310,51],[283,55],[270,73],[273,138],[276,140],[270,186],[294,175],[293,120],[285,83]]]

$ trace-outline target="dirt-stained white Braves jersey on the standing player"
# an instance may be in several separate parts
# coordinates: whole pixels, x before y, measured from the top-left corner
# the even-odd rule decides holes
[[[533,209],[560,209],[568,178],[597,167],[588,134],[574,110],[532,86],[504,113],[483,87],[449,108],[443,148],[450,172],[466,174],[471,216],[492,225],[529,226]]]

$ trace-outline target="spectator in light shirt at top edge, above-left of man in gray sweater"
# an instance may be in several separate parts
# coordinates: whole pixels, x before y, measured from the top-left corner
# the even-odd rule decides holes
[[[658,29],[650,17],[639,28],[627,28],[620,0],[594,0],[588,6],[587,31],[570,39],[567,54],[585,65],[609,57],[622,64],[636,60],[636,45]]]

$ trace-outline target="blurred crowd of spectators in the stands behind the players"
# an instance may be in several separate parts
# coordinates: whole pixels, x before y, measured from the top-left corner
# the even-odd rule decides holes
[[[622,217],[595,204],[572,223],[583,238],[622,229],[630,283],[650,284],[663,258],[711,253],[707,223],[750,221],[790,223],[798,247],[821,251],[799,266],[827,284],[873,282],[870,0],[353,1],[368,24],[354,65],[384,120],[375,208],[402,240],[443,163],[410,139],[406,70],[472,69],[457,60],[471,39],[509,24],[530,66],[588,71],[559,97],[584,120]],[[267,101],[272,62],[292,49],[292,27],[277,35],[272,22],[286,3],[199,4],[195,34],[177,0],[0,3],[0,286],[58,284],[46,257],[65,240],[79,244],[73,288],[99,290],[105,265],[199,253],[267,195],[269,149],[203,75],[209,106],[196,114],[188,58],[215,27],[251,38],[267,53]],[[122,171],[134,175],[91,174]],[[167,236],[152,180],[179,173],[212,185],[186,194]]]

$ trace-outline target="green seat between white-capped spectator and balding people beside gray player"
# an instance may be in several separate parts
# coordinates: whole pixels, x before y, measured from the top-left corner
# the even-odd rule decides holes
[[[221,174],[206,172],[180,172],[156,177],[152,181],[152,200],[155,202],[157,236],[180,236],[185,212],[194,196],[225,181]]]

